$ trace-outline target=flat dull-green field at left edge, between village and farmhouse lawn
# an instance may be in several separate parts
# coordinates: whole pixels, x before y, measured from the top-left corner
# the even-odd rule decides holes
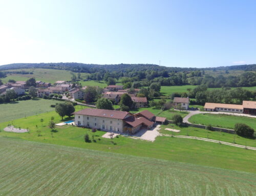
[[[26,101],[0,104],[0,122],[54,111],[55,108],[50,107],[50,105],[58,102],[59,101],[52,99],[34,98]]]

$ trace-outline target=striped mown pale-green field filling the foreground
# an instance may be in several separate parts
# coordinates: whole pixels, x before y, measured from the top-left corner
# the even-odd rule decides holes
[[[0,138],[0,148],[1,195],[193,196],[256,191],[255,175],[249,172],[10,138]]]

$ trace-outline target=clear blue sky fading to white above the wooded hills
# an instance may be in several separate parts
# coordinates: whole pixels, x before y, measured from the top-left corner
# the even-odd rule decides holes
[[[255,1],[0,0],[0,64],[256,63]]]

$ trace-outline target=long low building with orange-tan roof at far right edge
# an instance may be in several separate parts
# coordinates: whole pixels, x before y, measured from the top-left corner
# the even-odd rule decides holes
[[[231,113],[244,113],[256,114],[256,101],[243,101],[242,105],[237,104],[223,104],[223,103],[205,103],[205,111],[210,112],[231,112]]]

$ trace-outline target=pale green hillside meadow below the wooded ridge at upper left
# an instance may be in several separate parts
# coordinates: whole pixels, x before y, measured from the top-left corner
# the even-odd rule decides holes
[[[71,71],[67,70],[53,70],[53,69],[20,69],[20,70],[7,70],[7,71],[28,71],[33,72],[33,74],[8,74],[6,78],[2,78],[3,82],[8,82],[9,79],[14,79],[16,81],[26,81],[29,78],[34,77],[36,80],[54,83],[57,80],[71,80]],[[77,73],[74,73],[77,75]],[[84,78],[88,74],[81,73],[81,77]]]

